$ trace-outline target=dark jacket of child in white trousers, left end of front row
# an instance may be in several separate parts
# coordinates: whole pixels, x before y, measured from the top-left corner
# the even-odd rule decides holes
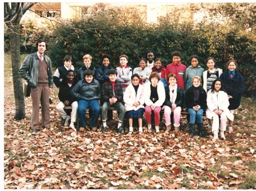
[[[59,86],[59,100],[62,101],[64,103],[64,101],[69,100],[70,105],[74,102],[77,101],[77,99],[75,99],[70,91],[71,89],[77,84],[77,79],[74,79],[73,84],[71,85],[71,87],[69,87],[68,82],[66,81],[66,78],[64,78],[61,82],[60,82],[60,86]]]

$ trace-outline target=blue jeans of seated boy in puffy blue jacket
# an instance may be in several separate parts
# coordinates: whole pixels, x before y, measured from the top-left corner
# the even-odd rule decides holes
[[[91,126],[96,127],[97,120],[99,118],[100,106],[99,101],[96,99],[93,100],[79,100],[77,107],[77,115],[80,119],[80,127],[86,126],[86,110],[89,107],[91,109]]]

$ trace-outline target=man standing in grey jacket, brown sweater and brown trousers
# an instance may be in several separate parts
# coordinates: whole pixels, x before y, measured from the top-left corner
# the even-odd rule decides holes
[[[47,45],[44,40],[38,40],[37,52],[26,56],[19,74],[28,81],[31,87],[32,116],[31,128],[39,131],[39,104],[41,102],[42,127],[50,128],[49,94],[53,82],[51,59],[44,54]]]

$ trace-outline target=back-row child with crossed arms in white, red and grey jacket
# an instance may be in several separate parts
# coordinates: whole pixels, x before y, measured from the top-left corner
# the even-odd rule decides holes
[[[117,67],[117,81],[122,84],[123,91],[125,91],[131,82],[132,69],[127,66],[128,56],[126,54],[119,56],[119,63],[120,66]]]

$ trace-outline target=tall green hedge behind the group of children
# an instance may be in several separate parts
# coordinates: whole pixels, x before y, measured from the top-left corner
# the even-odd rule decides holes
[[[166,19],[156,25],[145,25],[141,21],[122,24],[116,19],[98,16],[97,20],[91,17],[66,21],[51,29],[51,33],[43,29],[35,32],[35,26],[30,28],[33,30],[27,30],[30,35],[26,39],[28,42],[32,41],[30,38],[35,41],[33,33],[48,39],[48,54],[56,67],[63,65],[62,60],[66,54],[73,57],[76,67],[82,66],[82,57],[86,53],[92,55],[92,64],[99,67],[102,54],[107,53],[114,66],[119,64],[120,54],[127,54],[129,65],[134,68],[138,67],[139,59],[145,57],[147,50],[153,50],[155,57],[161,58],[164,65],[167,65],[172,62],[171,53],[178,50],[185,65],[189,66],[190,56],[197,54],[200,57],[199,64],[205,69],[207,57],[214,57],[217,66],[224,70],[228,59],[234,58],[239,64],[238,70],[245,78],[245,95],[256,93],[255,38],[252,37],[253,30],[246,31],[240,26],[199,23],[195,27],[193,23],[173,24]],[[5,39],[8,41],[8,35]],[[27,48],[36,50],[32,43]]]

